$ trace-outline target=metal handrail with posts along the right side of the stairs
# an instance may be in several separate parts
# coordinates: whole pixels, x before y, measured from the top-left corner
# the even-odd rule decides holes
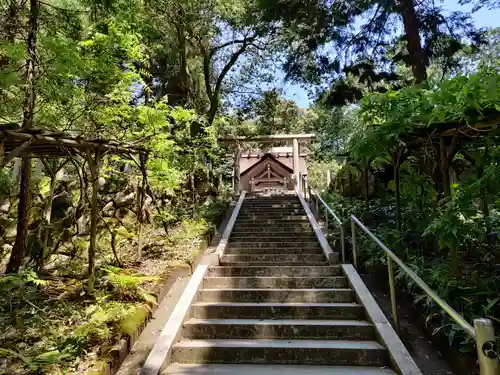
[[[344,224],[347,222],[342,222],[339,217],[333,212],[333,210],[326,204],[326,202],[320,197],[319,193],[314,190],[309,182],[304,176],[301,176],[301,193],[304,199],[309,201],[309,204],[315,203],[316,215],[320,216],[319,204],[324,208],[326,228],[328,231],[328,215],[332,216],[335,222],[341,228],[341,241],[342,241],[342,259],[345,262],[345,237],[344,237]],[[314,196],[314,198],[313,198]],[[357,245],[356,245],[356,228],[361,229],[370,239],[375,242],[387,255],[387,269],[389,275],[389,290],[391,297],[391,309],[392,309],[392,319],[394,321],[394,326],[397,331],[399,331],[399,319],[397,311],[397,301],[396,301],[396,281],[394,275],[394,263],[399,266],[401,270],[409,276],[415,284],[422,289],[443,311],[462,329],[467,332],[467,334],[475,340],[477,354],[479,359],[479,368],[481,375],[499,375],[499,363],[498,354],[496,349],[496,337],[495,329],[491,319],[480,318],[474,319],[474,326],[469,324],[464,317],[462,317],[457,311],[455,311],[445,300],[438,296],[438,294],[432,290],[415,272],[413,272],[403,261],[394,254],[386,245],[380,241],[356,216],[351,215],[351,242],[352,242],[352,254],[353,263],[357,266]],[[328,234],[328,232],[326,233]]]

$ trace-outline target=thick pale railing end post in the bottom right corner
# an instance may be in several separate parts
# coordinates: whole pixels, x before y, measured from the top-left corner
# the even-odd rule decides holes
[[[498,375],[498,353],[495,340],[495,329],[490,319],[474,319],[476,330],[477,357],[481,375]]]

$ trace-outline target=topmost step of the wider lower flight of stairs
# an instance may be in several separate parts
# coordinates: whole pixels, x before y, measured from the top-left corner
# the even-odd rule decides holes
[[[340,266],[223,266],[210,267],[207,276],[340,276]]]

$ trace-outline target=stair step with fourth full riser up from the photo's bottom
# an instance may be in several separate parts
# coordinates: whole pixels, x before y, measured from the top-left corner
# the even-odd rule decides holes
[[[352,302],[352,289],[201,289],[200,302]]]

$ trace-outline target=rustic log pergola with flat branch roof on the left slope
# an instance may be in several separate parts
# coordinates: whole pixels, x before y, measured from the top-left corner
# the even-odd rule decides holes
[[[0,169],[16,157],[72,158],[81,156],[89,164],[92,179],[92,198],[90,214],[89,243],[89,289],[93,288],[95,279],[95,253],[97,239],[97,198],[99,189],[99,170],[102,158],[106,155],[124,155],[131,159],[139,155],[139,164],[143,175],[140,191],[141,212],[145,199],[147,184],[146,164],[149,150],[133,144],[119,143],[105,139],[85,139],[63,132],[47,132],[41,129],[23,129],[17,124],[0,125]],[[45,162],[44,162],[45,164]],[[26,185],[26,186],[23,186]],[[28,194],[29,186],[21,179],[20,209],[18,221],[28,220],[28,207],[22,207],[22,194]],[[24,192],[23,192],[24,190]],[[24,211],[24,214],[23,214]],[[138,215],[139,220],[141,215]],[[19,225],[19,224],[18,224]],[[18,231],[19,232],[19,231]],[[18,233],[19,235],[19,233]],[[27,235],[27,232],[22,234]],[[14,248],[13,251],[16,249]],[[22,257],[24,254],[20,254]]]

